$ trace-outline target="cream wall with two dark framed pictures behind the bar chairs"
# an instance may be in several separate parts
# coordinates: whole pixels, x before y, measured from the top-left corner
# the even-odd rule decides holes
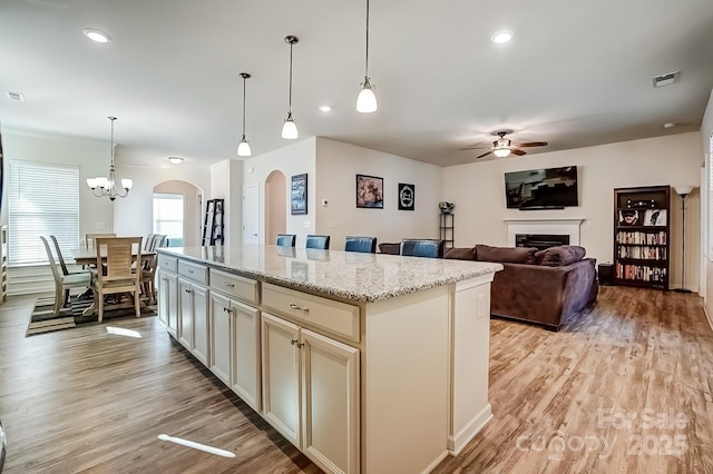
[[[316,199],[310,196],[316,205],[315,234],[331,235],[334,249],[344,248],[348,235],[375,236],[379,243],[439,238],[442,172],[439,166],[318,138]],[[358,174],[383,178],[383,209],[356,208]],[[414,185],[414,210],[399,210],[399,182]]]

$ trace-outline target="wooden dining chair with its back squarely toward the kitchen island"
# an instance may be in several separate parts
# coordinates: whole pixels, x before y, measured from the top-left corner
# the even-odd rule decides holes
[[[141,240],[143,237],[96,238],[97,268],[102,268],[102,259],[106,261],[105,267],[97,270],[94,283],[94,303],[99,323],[104,319],[104,297],[107,295],[128,294],[134,300],[136,317],[141,316],[141,271],[131,268],[134,261],[141,261]]]

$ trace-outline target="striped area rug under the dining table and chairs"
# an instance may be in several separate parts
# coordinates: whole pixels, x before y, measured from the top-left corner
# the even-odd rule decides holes
[[[26,336],[69,329],[81,324],[97,323],[97,315],[85,316],[81,314],[91,303],[91,298],[72,296],[70,306],[62,308],[59,315],[55,316],[55,296],[40,296],[35,303]],[[141,317],[144,316],[156,316],[156,306],[141,306]],[[127,317],[135,317],[134,307],[106,308],[104,310],[104,322]]]

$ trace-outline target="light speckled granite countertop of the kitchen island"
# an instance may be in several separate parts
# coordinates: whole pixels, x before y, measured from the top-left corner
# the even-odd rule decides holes
[[[266,246],[167,247],[159,253],[307,293],[373,303],[502,269],[488,261]]]

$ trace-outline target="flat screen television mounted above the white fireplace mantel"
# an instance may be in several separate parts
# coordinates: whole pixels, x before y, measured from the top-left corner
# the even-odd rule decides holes
[[[505,174],[508,209],[561,209],[578,206],[577,167]]]

